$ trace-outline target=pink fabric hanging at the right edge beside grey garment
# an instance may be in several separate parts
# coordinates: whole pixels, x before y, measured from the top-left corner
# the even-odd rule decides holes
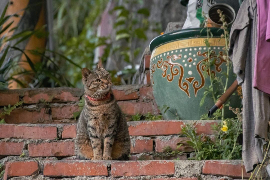
[[[257,0],[258,39],[253,87],[270,94],[270,1]]]

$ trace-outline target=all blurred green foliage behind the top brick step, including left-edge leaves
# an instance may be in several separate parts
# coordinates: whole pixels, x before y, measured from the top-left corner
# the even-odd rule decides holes
[[[148,46],[144,45],[147,41],[146,32],[151,30],[158,35],[161,29],[159,23],[149,21],[150,12],[144,7],[144,1],[54,0],[52,2],[53,11],[48,11],[53,13],[52,32],[46,32],[45,25],[42,29],[22,31],[10,38],[6,38],[4,34],[0,38],[0,46],[5,46],[0,52],[0,89],[6,89],[11,80],[23,88],[82,87],[81,69],[95,67],[93,59],[95,49],[99,46],[105,47],[103,56],[99,57],[102,58],[103,64],[106,64],[109,58],[116,64],[108,69],[112,81],[131,84],[132,76],[136,73],[135,60],[136,58],[138,60],[140,53]],[[108,37],[98,37],[97,28],[109,2],[114,2],[115,5],[110,11],[113,17],[113,32]],[[31,8],[25,10],[30,11]],[[16,14],[5,16],[5,12],[2,13],[0,35],[10,26],[4,23],[14,17]],[[23,50],[15,46],[28,40],[32,35],[46,37],[49,34],[53,36],[53,49]],[[15,45],[9,45],[11,40],[16,41]],[[142,47],[138,47],[142,44]],[[11,50],[19,52],[19,55],[9,55]],[[33,63],[27,56],[28,52],[41,56],[42,61]],[[27,63],[31,67],[30,71],[19,66],[22,54],[26,56]],[[32,81],[26,82],[23,78],[18,78],[18,75],[30,75]]]

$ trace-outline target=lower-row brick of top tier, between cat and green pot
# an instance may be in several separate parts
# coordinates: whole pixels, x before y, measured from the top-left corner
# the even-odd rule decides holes
[[[124,114],[131,116],[135,114],[147,114],[148,112],[152,114],[157,114],[158,110],[153,108],[152,102],[117,102]]]

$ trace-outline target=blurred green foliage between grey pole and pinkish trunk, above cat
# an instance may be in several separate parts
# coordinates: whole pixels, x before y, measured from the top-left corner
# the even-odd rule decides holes
[[[107,3],[108,0],[54,0],[55,50],[81,67],[92,67],[95,48],[106,44],[106,38],[96,36],[96,28]],[[64,61],[59,64],[74,86],[82,86],[80,68]]]

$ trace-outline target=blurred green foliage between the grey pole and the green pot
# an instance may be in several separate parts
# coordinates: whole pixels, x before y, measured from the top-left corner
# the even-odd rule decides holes
[[[160,33],[160,25],[149,22],[149,9],[144,8],[144,1],[125,0],[114,1],[116,6],[110,11],[114,16],[113,29],[115,36],[98,37],[97,27],[109,0],[78,0],[53,1],[55,50],[81,67],[93,67],[96,47],[105,45],[103,64],[107,58],[116,61],[115,64],[130,65],[129,68],[116,67],[110,69],[113,81],[130,84],[136,72],[134,60],[145,47],[135,47],[134,41],[145,42],[146,31]],[[120,5],[119,5],[120,4]],[[132,8],[129,7],[142,7]],[[72,64],[59,62],[69,81],[76,87],[81,87],[81,71]],[[116,75],[117,74],[117,75]]]

